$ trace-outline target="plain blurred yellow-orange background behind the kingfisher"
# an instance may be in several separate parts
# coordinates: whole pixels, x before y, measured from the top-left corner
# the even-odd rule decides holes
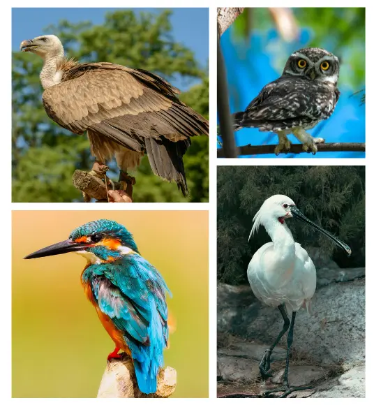
[[[23,260],[71,230],[112,219],[163,275],[177,319],[165,365],[177,370],[173,397],[208,397],[207,211],[14,211],[13,397],[96,397],[114,343],[84,295],[82,256]]]

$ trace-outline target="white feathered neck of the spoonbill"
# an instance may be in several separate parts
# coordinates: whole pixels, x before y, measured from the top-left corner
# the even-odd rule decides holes
[[[280,223],[278,219],[269,218],[263,225],[274,242],[274,251],[278,251],[280,257],[294,257],[294,238],[285,221]]]

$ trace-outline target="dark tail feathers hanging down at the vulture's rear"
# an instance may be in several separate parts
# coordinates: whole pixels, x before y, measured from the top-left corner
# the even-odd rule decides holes
[[[158,142],[153,138],[146,138],[145,147],[149,164],[155,175],[163,179],[177,183],[178,189],[181,190],[184,197],[188,196],[186,174],[184,172],[183,156],[190,146],[190,140],[179,140],[172,142],[163,140]]]

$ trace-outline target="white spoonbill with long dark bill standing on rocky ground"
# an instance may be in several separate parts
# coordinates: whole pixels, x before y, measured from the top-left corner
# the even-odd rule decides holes
[[[308,387],[290,387],[288,383],[288,367],[290,349],[294,334],[294,320],[297,311],[306,307],[309,311],[311,299],[315,292],[316,273],[312,259],[301,245],[294,242],[292,233],[285,219],[297,218],[333,240],[350,256],[351,249],[334,235],[310,221],[291,198],[282,195],[271,196],[264,201],[260,210],[253,218],[252,237],[263,225],[273,242],[264,244],[253,255],[248,265],[247,276],[250,287],[258,300],[271,307],[278,307],[283,317],[283,328],[260,361],[260,374],[263,379],[271,376],[270,356],[283,334],[290,328],[287,336],[287,355],[285,359],[285,374],[283,386],[267,393],[284,391],[280,397],[287,397],[291,392],[304,390]],[[287,314],[292,313],[291,321]]]

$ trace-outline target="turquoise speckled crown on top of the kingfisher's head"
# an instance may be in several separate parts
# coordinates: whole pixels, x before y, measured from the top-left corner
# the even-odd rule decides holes
[[[110,219],[98,219],[98,221],[91,221],[82,226],[78,226],[78,228],[75,228],[75,230],[70,233],[69,238],[71,240],[76,240],[82,236],[91,236],[95,234],[118,239],[121,241],[121,244],[128,246],[130,249],[133,249],[133,251],[139,253],[133,235],[123,225],[116,221],[111,221]]]

